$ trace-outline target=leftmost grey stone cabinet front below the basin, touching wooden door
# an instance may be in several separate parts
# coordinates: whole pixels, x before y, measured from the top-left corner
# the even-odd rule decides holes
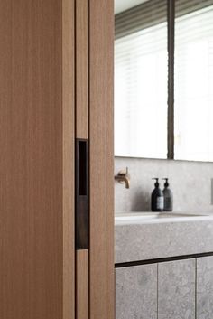
[[[116,319],[157,319],[157,265],[116,268]]]

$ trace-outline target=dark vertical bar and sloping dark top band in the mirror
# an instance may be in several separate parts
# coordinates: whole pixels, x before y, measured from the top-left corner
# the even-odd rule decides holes
[[[155,3],[156,0],[150,0],[151,5]],[[160,1],[160,0],[159,0]],[[206,5],[211,5],[212,0],[206,0]],[[161,5],[163,0],[161,1]],[[174,63],[175,63],[175,19],[176,19],[176,5],[178,5],[178,15],[181,16],[190,13],[191,10],[199,10],[202,8],[201,3],[196,3],[196,1],[191,0],[191,6],[186,6],[184,0],[176,2],[176,0],[167,0],[165,2],[166,15],[163,17],[161,14],[158,16],[158,20],[167,22],[167,52],[168,52],[168,89],[167,89],[167,159],[174,158]],[[125,13],[116,14],[116,38],[123,37],[130,33],[134,33],[140,30],[140,27],[147,27],[153,25],[153,21],[145,22],[138,19],[137,14],[143,12],[143,8],[146,11],[149,4],[145,2],[142,5],[137,5],[131,9],[128,9]],[[136,21],[133,25],[125,22],[125,19]],[[126,26],[128,25],[128,27]],[[128,29],[129,28],[129,29]],[[157,158],[157,157],[156,157]]]

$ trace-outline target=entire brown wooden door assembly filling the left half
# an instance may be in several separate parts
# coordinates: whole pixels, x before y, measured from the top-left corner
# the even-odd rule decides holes
[[[115,319],[113,33],[112,0],[0,2],[1,319]]]

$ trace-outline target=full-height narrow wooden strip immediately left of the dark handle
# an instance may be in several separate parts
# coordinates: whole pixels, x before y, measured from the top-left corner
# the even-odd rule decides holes
[[[63,319],[74,319],[75,1],[62,1]]]

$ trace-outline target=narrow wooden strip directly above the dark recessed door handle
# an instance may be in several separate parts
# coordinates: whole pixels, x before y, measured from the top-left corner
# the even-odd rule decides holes
[[[76,132],[88,138],[88,0],[76,1]]]

